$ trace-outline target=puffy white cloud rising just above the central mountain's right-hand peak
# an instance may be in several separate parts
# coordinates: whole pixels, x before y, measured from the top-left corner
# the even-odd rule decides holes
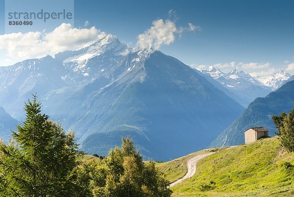
[[[172,10],[170,10],[171,12]],[[169,12],[169,15],[170,15]],[[152,22],[152,27],[148,28],[144,33],[138,35],[137,46],[139,48],[148,48],[158,50],[161,45],[170,45],[174,42],[176,36],[181,37],[184,31],[200,30],[199,26],[189,24],[189,28],[176,27],[175,22],[171,20],[158,19]]]

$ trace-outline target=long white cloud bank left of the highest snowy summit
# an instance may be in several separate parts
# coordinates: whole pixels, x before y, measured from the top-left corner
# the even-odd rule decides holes
[[[0,50],[5,51],[6,59],[11,59],[6,62],[16,63],[29,58],[53,56],[66,50],[81,49],[105,35],[105,32],[95,27],[73,28],[71,24],[64,23],[49,33],[36,31],[0,35]]]

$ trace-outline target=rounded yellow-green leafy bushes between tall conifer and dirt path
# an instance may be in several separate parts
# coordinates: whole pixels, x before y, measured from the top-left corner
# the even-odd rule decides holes
[[[122,141],[122,147],[110,150],[105,159],[79,167],[78,180],[88,197],[170,197],[169,182],[155,163],[143,163],[133,141]]]

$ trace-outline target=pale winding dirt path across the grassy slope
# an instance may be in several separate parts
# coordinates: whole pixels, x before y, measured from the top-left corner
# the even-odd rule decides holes
[[[191,178],[196,172],[196,164],[198,163],[198,161],[200,159],[207,157],[209,155],[212,155],[214,153],[215,152],[203,153],[203,154],[196,155],[195,157],[189,159],[187,162],[187,168],[188,168],[187,174],[185,176],[183,176],[182,178],[177,179],[176,181],[173,181],[169,187],[173,187],[173,186],[179,184],[180,182],[182,182],[183,180],[185,180],[187,178]]]

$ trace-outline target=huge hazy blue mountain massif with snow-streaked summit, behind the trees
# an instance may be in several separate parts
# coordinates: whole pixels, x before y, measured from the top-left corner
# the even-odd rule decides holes
[[[45,113],[98,155],[130,136],[145,158],[207,147],[245,109],[172,56],[107,35],[89,47],[0,68],[0,105],[23,120],[37,92]],[[1,132],[1,136],[6,133]]]

